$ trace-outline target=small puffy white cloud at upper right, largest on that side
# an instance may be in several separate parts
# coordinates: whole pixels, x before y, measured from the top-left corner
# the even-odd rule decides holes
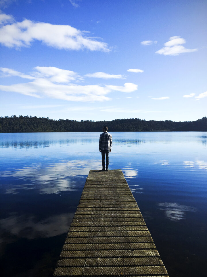
[[[164,43],[164,47],[155,53],[164,56],[178,56],[181,53],[198,51],[198,49],[187,49],[181,45],[185,43],[186,40],[184,38],[180,38],[179,36],[170,37],[169,41]]]

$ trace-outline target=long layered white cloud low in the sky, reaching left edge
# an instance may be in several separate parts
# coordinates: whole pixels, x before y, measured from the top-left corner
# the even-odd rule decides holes
[[[82,80],[82,77],[74,71],[40,66],[34,69],[36,71],[27,75],[9,68],[0,68],[4,76],[18,76],[20,78],[31,79],[31,81],[26,83],[0,85],[0,90],[17,92],[37,98],[47,97],[83,102],[110,100],[106,94],[112,91],[132,92],[137,90],[137,85],[132,83],[125,83],[124,86],[77,85],[71,82]]]

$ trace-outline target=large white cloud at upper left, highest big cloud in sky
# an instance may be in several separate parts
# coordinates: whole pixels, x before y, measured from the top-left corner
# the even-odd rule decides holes
[[[2,20],[11,20],[11,16],[2,16]],[[5,23],[4,23],[5,24]],[[85,36],[86,31],[80,31],[70,25],[53,25],[44,22],[34,22],[24,19],[0,27],[0,43],[7,47],[29,47],[34,40],[42,41],[47,46],[65,50],[83,50],[109,52],[105,42]]]

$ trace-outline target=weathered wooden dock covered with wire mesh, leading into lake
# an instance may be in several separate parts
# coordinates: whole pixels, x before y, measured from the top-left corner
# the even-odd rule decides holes
[[[168,276],[121,170],[90,170],[54,276]]]

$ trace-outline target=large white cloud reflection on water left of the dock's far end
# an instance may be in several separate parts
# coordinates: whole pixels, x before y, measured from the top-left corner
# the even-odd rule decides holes
[[[14,177],[15,182],[3,192],[17,194],[20,190],[39,190],[39,193],[57,193],[60,191],[75,190],[77,187],[74,177],[85,177],[89,170],[98,168],[100,160],[60,161],[56,164],[35,164],[13,171],[0,172],[1,177]],[[21,182],[17,182],[21,180]]]

